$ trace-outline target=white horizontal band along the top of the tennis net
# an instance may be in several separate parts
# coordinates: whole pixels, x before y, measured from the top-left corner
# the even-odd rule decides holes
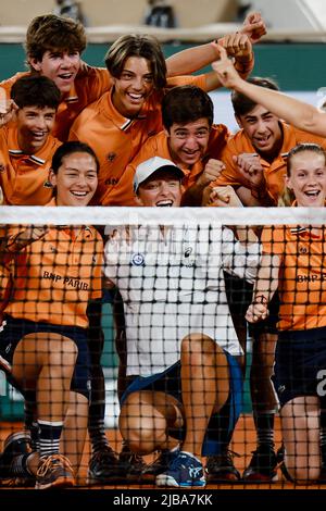
[[[83,225],[326,224],[326,208],[1,207],[0,223]]]

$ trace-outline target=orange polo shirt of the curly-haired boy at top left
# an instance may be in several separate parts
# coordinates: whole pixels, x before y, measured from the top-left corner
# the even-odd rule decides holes
[[[8,96],[12,85],[21,76],[29,75],[30,72],[17,73],[12,78],[0,83]],[[67,140],[68,133],[77,115],[90,103],[100,98],[111,88],[110,73],[104,67],[92,67],[82,62],[80,70],[75,78],[74,85],[67,96],[62,98],[55,116],[55,125],[52,135],[62,141]]]

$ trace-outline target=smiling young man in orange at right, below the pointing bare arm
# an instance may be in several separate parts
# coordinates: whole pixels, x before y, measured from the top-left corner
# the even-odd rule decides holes
[[[278,90],[271,78],[248,78],[248,83]],[[326,148],[325,138],[286,124],[262,104],[243,94],[231,94],[240,130],[223,151],[225,170],[213,186],[246,186],[251,194],[240,197],[246,205],[277,205],[285,191],[288,152],[298,144],[315,142]]]

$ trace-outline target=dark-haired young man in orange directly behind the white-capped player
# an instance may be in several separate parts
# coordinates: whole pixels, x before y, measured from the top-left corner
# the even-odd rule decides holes
[[[136,167],[155,155],[172,160],[184,172],[184,190],[202,190],[224,167],[220,154],[229,132],[223,124],[213,124],[213,102],[196,85],[168,90],[162,101],[164,129],[150,137],[127,166],[121,178],[122,198],[133,201]],[[193,187],[196,189],[193,189]]]

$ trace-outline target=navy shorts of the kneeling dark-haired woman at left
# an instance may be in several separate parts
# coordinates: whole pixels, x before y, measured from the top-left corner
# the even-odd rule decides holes
[[[72,378],[71,390],[82,394],[89,399],[90,394],[90,359],[87,345],[87,331],[79,326],[52,325],[50,323],[35,323],[28,320],[15,320],[5,316],[0,326],[0,369],[3,369],[8,379],[15,385],[11,377],[13,354],[20,340],[27,334],[36,332],[54,332],[72,339],[78,348],[75,371]],[[24,395],[24,391],[22,391]]]

